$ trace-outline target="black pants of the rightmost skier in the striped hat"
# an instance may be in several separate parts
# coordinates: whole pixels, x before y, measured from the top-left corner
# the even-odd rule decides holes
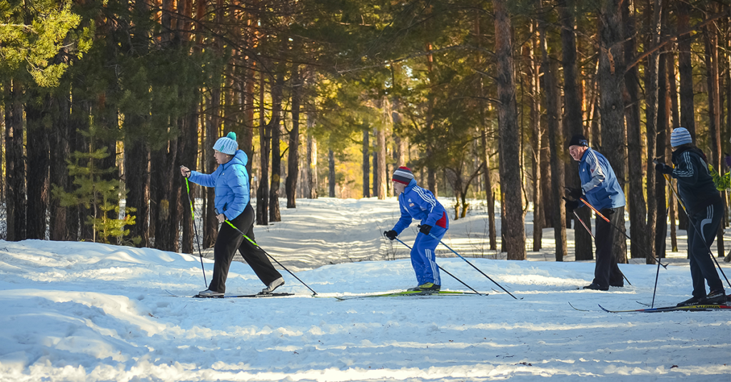
[[[688,257],[690,258],[690,275],[693,278],[693,297],[703,298],[705,281],[711,291],[723,291],[716,265],[711,259],[711,244],[719,232],[721,217],[724,213],[721,202],[714,203],[689,215],[688,224]]]

